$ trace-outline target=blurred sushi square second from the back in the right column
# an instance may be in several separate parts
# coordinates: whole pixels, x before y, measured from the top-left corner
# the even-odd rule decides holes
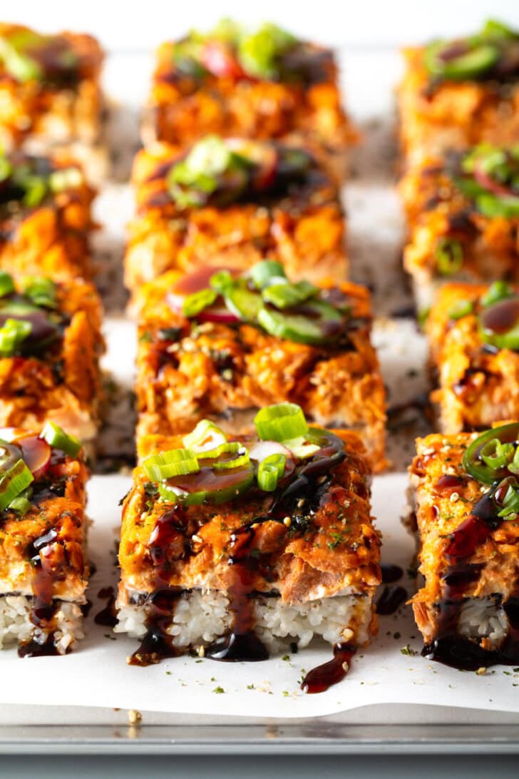
[[[426,157],[405,174],[404,265],[422,308],[446,280],[519,280],[518,149],[484,144]]]

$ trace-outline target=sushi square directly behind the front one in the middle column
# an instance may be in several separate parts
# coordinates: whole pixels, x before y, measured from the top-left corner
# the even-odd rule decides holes
[[[316,425],[358,432],[380,471],[385,392],[366,288],[293,284],[273,260],[215,271],[169,271],[139,291],[138,437],[202,418],[251,432],[259,408],[289,400]]]

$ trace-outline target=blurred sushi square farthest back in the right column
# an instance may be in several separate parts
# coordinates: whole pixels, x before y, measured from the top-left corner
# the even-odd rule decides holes
[[[489,19],[479,32],[404,51],[398,90],[407,164],[477,143],[519,140],[519,33]]]

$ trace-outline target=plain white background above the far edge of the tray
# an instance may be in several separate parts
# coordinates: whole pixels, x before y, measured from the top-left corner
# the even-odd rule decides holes
[[[109,48],[155,46],[222,16],[272,19],[303,37],[342,46],[401,45],[471,31],[487,16],[519,26],[517,0],[1,0],[5,21],[89,31]]]

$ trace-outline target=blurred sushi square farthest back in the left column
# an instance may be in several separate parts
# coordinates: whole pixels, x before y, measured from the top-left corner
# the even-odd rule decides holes
[[[0,23],[0,146],[65,150],[88,163],[89,174],[103,172],[102,65],[100,44],[89,35]]]

